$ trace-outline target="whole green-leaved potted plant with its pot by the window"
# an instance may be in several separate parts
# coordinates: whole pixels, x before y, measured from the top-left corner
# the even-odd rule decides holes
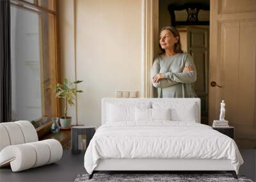
[[[67,79],[64,79],[63,84],[58,83],[54,88],[56,91],[56,97],[64,99],[65,109],[64,116],[60,118],[60,125],[62,129],[68,129],[71,126],[71,117],[67,116],[67,106],[74,105],[74,99],[76,98],[77,93],[82,93],[83,91],[77,90],[76,85],[83,82],[83,80],[76,80],[75,82],[69,82]]]

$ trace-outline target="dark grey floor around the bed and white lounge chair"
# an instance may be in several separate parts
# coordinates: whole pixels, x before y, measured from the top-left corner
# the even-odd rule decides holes
[[[241,155],[244,164],[241,166],[239,174],[244,174],[246,178],[256,179],[256,150],[243,150]],[[59,162],[44,165],[22,172],[12,172],[10,167],[0,169],[0,181],[74,181],[78,174],[85,174],[84,153],[72,155],[70,150],[64,150]]]

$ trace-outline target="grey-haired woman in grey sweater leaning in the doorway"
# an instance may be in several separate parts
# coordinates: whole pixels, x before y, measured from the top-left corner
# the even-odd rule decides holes
[[[179,31],[175,27],[163,27],[159,43],[162,53],[154,58],[151,69],[158,98],[196,97],[193,88],[195,64],[192,57],[181,49]]]

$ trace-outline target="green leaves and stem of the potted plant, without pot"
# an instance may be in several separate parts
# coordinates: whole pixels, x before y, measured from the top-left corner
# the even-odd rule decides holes
[[[76,98],[77,93],[82,93],[83,91],[77,90],[76,85],[83,82],[83,80],[76,80],[75,82],[69,82],[67,79],[64,79],[63,84],[58,83],[55,87],[56,97],[63,98],[65,102],[65,117],[67,119],[67,105],[74,105],[74,99]]]

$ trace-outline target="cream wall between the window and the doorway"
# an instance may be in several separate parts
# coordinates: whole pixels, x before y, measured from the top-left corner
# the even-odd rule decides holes
[[[72,15],[74,1],[61,1],[61,63],[65,77],[73,78]],[[77,97],[77,121],[100,126],[101,98],[116,90],[138,90],[141,95],[141,1],[75,1],[76,72],[84,93]],[[73,11],[74,12],[74,11]],[[70,29],[70,31],[67,31]],[[63,40],[64,39],[64,40]],[[67,46],[70,45],[70,46]],[[70,52],[69,52],[70,51]],[[67,58],[70,56],[70,58]],[[71,112],[70,112],[71,111]],[[74,112],[68,112],[72,117]]]

